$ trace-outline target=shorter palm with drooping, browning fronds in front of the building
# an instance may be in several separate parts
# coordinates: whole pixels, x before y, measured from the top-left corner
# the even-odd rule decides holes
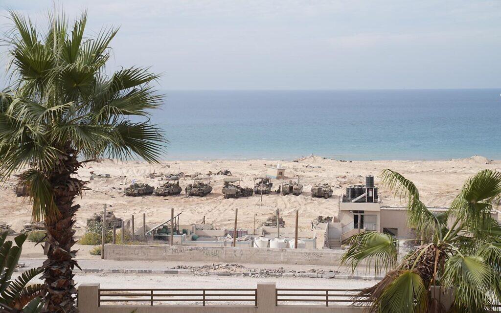
[[[418,246],[398,260],[398,240],[367,231],[355,235],[343,255],[355,269],[362,260],[389,270],[355,300],[372,301],[370,312],[443,312],[436,288],[453,292],[452,311],[487,312],[501,300],[501,227],[491,217],[501,196],[501,173],[483,170],[470,177],[450,208],[434,214],[410,180],[384,170],[381,181],[407,201],[407,224]],[[415,240],[414,240],[415,241]]]

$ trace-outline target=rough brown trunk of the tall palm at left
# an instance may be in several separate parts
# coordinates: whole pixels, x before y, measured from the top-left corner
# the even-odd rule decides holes
[[[67,145],[59,157],[59,165],[49,175],[60,215],[47,216],[45,219],[47,243],[50,244],[42,276],[46,284],[45,312],[78,312],[73,280],[73,269],[78,265],[75,260],[76,251],[72,247],[75,244],[74,216],[80,205],[73,205],[73,202],[81,194],[85,182],[71,177],[81,167],[76,154]]]

